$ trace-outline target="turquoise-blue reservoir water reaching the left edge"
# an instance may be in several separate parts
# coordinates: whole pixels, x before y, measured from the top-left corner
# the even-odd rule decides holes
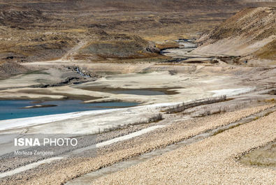
[[[24,108],[32,105],[57,105],[48,108]],[[0,101],[0,120],[23,117],[37,117],[50,114],[63,114],[85,110],[106,110],[136,106],[138,103],[108,102],[108,103],[82,103],[77,100],[45,101],[34,103],[29,100]]]

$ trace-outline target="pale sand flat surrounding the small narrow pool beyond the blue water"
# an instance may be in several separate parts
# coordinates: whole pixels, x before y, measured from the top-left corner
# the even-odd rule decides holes
[[[150,80],[149,80],[150,79]],[[103,87],[110,88],[124,88],[124,89],[147,89],[147,88],[173,88],[179,94],[174,95],[159,95],[159,96],[140,96],[134,94],[108,94],[101,93],[103,98],[95,101],[136,101],[140,103],[165,103],[165,102],[180,102],[189,101],[191,99],[206,98],[215,94],[212,90],[217,89],[238,89],[249,88],[240,86],[238,84],[240,80],[231,80],[231,76],[227,74],[214,74],[208,76],[186,73],[177,73],[170,75],[168,71],[160,71],[154,73],[129,73],[121,75],[110,75],[108,77],[102,77],[95,82],[88,82],[85,84],[79,84],[72,87],[96,87],[101,84]],[[173,90],[171,89],[171,90]],[[70,91],[70,89],[68,89]],[[99,97],[99,92],[83,91],[85,94]],[[226,95],[231,95],[231,92],[225,91]],[[87,103],[92,103],[87,101]]]

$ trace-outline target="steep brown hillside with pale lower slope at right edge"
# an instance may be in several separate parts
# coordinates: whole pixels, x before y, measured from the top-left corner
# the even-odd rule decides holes
[[[246,8],[203,35],[194,52],[275,59],[276,8]]]

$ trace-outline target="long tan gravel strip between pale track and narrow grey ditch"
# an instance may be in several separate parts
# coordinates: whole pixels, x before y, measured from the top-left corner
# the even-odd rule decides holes
[[[68,179],[71,179],[73,177],[78,177],[87,172],[91,172],[92,170],[98,170],[99,168],[102,168],[106,165],[122,161],[126,158],[130,158],[131,156],[144,154],[145,152],[152,151],[153,149],[164,147],[166,145],[171,145],[185,138],[197,135],[198,133],[203,133],[204,131],[208,131],[209,129],[217,128],[217,126],[229,124],[232,121],[236,121],[242,117],[246,117],[249,114],[259,112],[260,110],[271,106],[272,105],[264,105],[255,108],[238,110],[235,112],[215,114],[210,117],[178,122],[177,124],[172,124],[170,126],[166,126],[165,128],[159,128],[154,132],[141,135],[140,137],[117,142],[113,145],[103,148],[107,150],[106,153],[101,151],[103,153],[99,153],[99,156],[96,156],[96,158],[85,160],[83,158],[80,158],[80,161],[70,161],[68,163],[65,163],[64,165],[62,165],[62,163],[57,163],[49,165],[47,167],[41,166],[40,169],[42,170],[41,173],[43,173],[43,175],[32,174],[30,179],[29,176],[26,176],[27,174],[24,174],[24,176],[18,176],[17,180],[13,182],[17,182],[15,184],[60,184],[61,182],[66,182],[68,181]],[[273,124],[270,123],[270,127],[271,126],[273,126]],[[247,129],[245,129],[245,131],[247,131]],[[242,133],[240,133],[240,135],[242,135]],[[268,138],[271,138],[270,135],[267,136]],[[256,139],[258,138],[256,137]],[[240,142],[242,142],[242,140],[240,140]],[[224,148],[220,148],[220,150],[222,149]],[[227,147],[226,151],[228,152]],[[49,171],[49,169],[51,170]],[[47,170],[47,172],[50,172],[50,174],[45,175],[45,170]],[[34,172],[40,172],[40,170],[34,170]],[[159,174],[158,170],[156,172],[157,174]],[[136,176],[133,175],[133,177]],[[18,178],[21,180],[18,180]],[[28,178],[28,180],[26,178]],[[124,177],[117,179],[123,180],[123,178]]]

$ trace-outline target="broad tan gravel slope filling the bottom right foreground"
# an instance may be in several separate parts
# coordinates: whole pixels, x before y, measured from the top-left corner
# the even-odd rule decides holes
[[[274,184],[274,170],[242,165],[235,156],[275,140],[275,122],[276,112],[92,184]]]

